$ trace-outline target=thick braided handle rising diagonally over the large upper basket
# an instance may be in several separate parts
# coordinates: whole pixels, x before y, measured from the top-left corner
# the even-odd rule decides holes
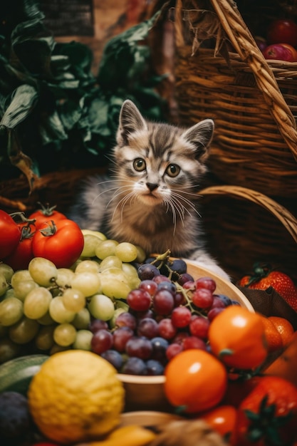
[[[231,44],[241,57],[241,60],[249,65],[254,73],[254,78],[278,130],[281,133],[293,156],[297,160],[297,129],[296,122],[278,87],[276,78],[269,64],[259,50],[249,28],[239,13],[239,9],[233,0],[210,0],[219,21],[229,37]],[[182,21],[182,0],[176,2],[176,20]],[[177,26],[177,42],[182,43],[181,26]],[[286,62],[283,62],[284,66]]]

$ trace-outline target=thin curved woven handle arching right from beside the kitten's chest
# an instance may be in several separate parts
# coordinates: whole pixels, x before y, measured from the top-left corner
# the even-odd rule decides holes
[[[266,195],[246,187],[229,185],[206,187],[199,191],[199,196],[201,195],[228,195],[239,199],[247,199],[259,204],[259,206],[271,212],[283,224],[293,237],[293,240],[297,243],[297,219],[288,209]]]

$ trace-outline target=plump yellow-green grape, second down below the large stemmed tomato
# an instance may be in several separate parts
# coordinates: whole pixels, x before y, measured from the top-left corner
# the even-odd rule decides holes
[[[30,319],[42,318],[51,304],[53,296],[44,286],[32,289],[24,300],[24,315]]]

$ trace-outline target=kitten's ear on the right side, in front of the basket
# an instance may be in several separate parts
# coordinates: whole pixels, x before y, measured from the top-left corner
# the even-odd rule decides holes
[[[214,121],[212,119],[204,119],[186,130],[182,137],[192,142],[196,147],[196,157],[204,160],[209,155],[209,145],[214,135]]]

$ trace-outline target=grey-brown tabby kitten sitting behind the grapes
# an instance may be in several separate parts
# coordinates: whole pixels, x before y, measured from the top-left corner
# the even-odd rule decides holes
[[[147,254],[192,259],[229,279],[204,249],[197,211],[199,179],[214,133],[210,119],[185,130],[142,117],[131,100],[120,110],[113,177],[90,177],[68,217]]]

